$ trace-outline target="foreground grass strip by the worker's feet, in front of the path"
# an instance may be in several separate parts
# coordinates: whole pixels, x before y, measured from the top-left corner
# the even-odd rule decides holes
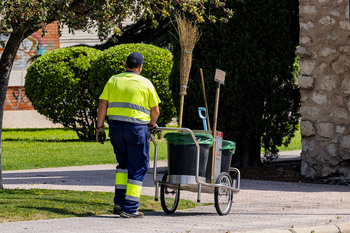
[[[66,190],[0,190],[0,223],[112,214],[113,193]],[[178,209],[198,204],[180,200]],[[141,196],[141,211],[161,211],[154,197]]]

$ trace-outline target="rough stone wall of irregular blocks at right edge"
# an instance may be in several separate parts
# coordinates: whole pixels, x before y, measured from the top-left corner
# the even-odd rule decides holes
[[[302,167],[350,178],[348,0],[299,0]]]

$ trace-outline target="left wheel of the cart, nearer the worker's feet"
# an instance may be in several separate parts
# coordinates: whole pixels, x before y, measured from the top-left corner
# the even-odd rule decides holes
[[[162,181],[166,181],[168,172],[163,176]],[[170,187],[165,184],[160,185],[160,203],[166,214],[173,214],[180,201],[180,188]]]

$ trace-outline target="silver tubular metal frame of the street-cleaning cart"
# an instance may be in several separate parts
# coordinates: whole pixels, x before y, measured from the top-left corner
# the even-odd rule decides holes
[[[155,132],[161,132],[161,131],[179,131],[179,132],[188,132],[190,133],[197,149],[197,155],[196,155],[196,174],[195,174],[195,181],[197,184],[172,184],[165,180],[158,180],[157,179],[157,161],[158,161],[158,144],[155,140],[155,137],[153,133]],[[179,190],[187,190],[191,192],[197,191],[197,202],[200,203],[201,201],[201,192],[205,193],[213,193],[214,195],[217,195],[216,192],[218,189],[223,188],[225,190],[232,191],[232,194],[238,193],[240,191],[240,171],[237,168],[230,167],[229,171],[233,172],[235,175],[235,178],[232,179],[232,177],[229,175],[231,179],[231,186],[217,184],[217,183],[206,183],[200,180],[199,178],[199,161],[200,161],[200,146],[199,143],[193,133],[192,130],[188,128],[169,128],[169,127],[157,127],[153,130],[153,132],[150,134],[150,138],[154,144],[154,168],[153,168],[153,180],[155,183],[155,200],[158,201],[158,193],[159,193],[159,185],[166,185],[168,187],[178,188]],[[215,138],[214,138],[215,140]],[[214,155],[213,155],[214,156]],[[220,173],[221,174],[221,173]],[[220,174],[217,177],[214,177],[214,180],[216,180]],[[212,175],[213,176],[213,175]],[[197,186],[197,187],[196,187]],[[176,208],[176,207],[175,207]],[[231,206],[230,206],[231,208]],[[175,210],[174,210],[175,211]],[[219,211],[218,211],[219,213]],[[219,213],[220,214],[220,213]],[[224,214],[220,214],[224,215]]]

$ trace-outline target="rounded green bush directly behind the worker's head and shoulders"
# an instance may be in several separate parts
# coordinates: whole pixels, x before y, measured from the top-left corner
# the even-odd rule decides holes
[[[154,45],[122,44],[104,50],[102,55],[93,63],[90,73],[90,83],[93,89],[93,99],[98,98],[112,75],[125,70],[125,61],[131,52],[139,52],[144,57],[141,75],[151,80],[161,103],[158,125],[165,126],[175,115],[175,106],[169,91],[169,75],[172,69],[172,54]]]

